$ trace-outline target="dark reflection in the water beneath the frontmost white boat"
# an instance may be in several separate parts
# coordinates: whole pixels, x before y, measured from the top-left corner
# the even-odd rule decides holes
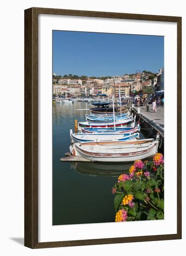
[[[151,159],[146,159],[151,160]],[[118,177],[122,173],[128,173],[133,162],[128,163],[102,163],[102,162],[71,162],[71,168],[77,173],[89,176]],[[143,171],[147,170],[146,166]]]

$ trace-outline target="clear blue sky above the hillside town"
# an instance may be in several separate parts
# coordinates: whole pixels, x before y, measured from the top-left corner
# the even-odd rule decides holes
[[[164,67],[164,37],[53,31],[53,72],[112,76]]]

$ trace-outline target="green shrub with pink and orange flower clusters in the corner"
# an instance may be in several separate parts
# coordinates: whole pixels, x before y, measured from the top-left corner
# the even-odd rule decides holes
[[[112,188],[115,222],[164,219],[164,159],[136,160]]]

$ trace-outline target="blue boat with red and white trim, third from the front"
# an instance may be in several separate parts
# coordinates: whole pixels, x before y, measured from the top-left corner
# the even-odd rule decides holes
[[[82,133],[104,133],[104,134],[121,134],[140,132],[140,126],[136,127],[115,127],[115,128],[81,128]]]

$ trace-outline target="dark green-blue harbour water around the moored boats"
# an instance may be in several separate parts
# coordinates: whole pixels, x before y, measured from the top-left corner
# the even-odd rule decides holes
[[[120,174],[132,163],[60,162],[69,152],[70,129],[74,121],[85,121],[87,102],[53,104],[53,225],[114,222],[114,195],[111,189]],[[143,135],[141,134],[141,138]]]

